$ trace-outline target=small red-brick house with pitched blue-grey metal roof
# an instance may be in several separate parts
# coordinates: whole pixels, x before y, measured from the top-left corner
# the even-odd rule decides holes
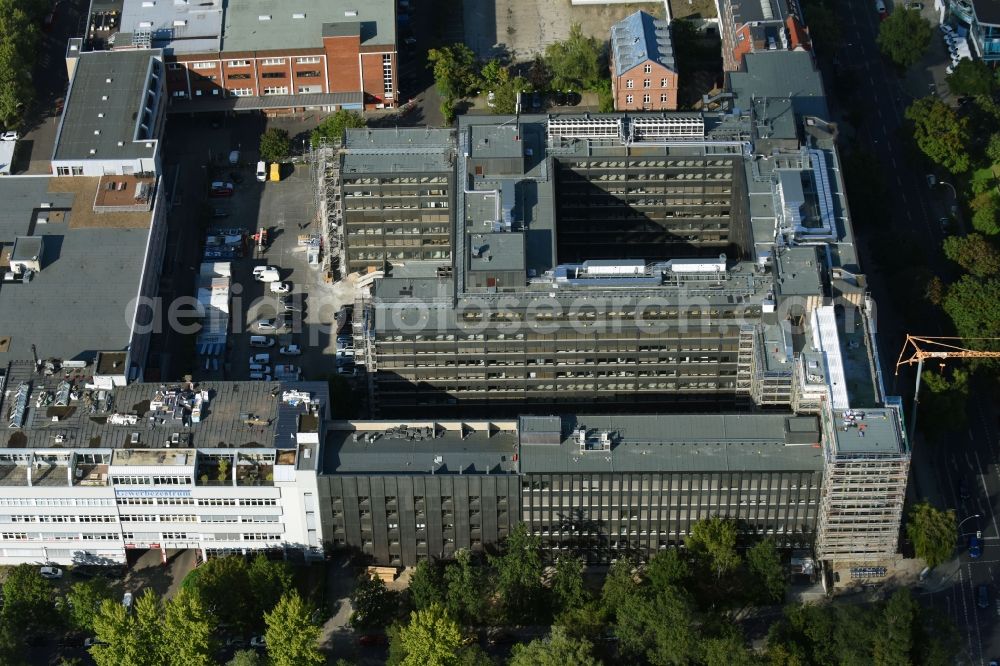
[[[611,28],[615,110],[676,110],[678,86],[670,27],[665,21],[640,11]]]

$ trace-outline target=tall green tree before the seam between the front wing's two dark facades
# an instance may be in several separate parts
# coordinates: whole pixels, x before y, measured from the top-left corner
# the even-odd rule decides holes
[[[497,594],[507,620],[538,619],[543,601],[541,539],[518,523],[504,542],[503,554],[491,556],[490,564],[496,571]]]

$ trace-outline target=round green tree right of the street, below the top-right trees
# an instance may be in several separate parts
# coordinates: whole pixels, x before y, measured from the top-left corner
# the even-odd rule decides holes
[[[907,12],[908,13],[908,12]],[[888,19],[887,19],[888,20]],[[923,97],[906,109],[917,147],[953,173],[969,169],[969,123],[937,97]]]

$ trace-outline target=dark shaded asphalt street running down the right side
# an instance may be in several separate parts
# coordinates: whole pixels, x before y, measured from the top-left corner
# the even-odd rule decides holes
[[[906,132],[904,112],[914,97],[940,94],[946,101],[947,89],[940,84],[940,75],[947,64],[947,55],[933,21],[933,13],[924,11],[935,24],[935,35],[928,57],[901,79],[893,66],[878,51],[878,17],[870,0],[847,0],[849,11],[842,12],[845,51],[850,54],[856,86],[852,99],[834,99],[834,107],[846,111],[852,104],[861,104],[865,113],[858,127],[857,140],[861,147],[874,155],[886,185],[891,229],[899,233],[912,232],[927,248],[929,268],[936,275],[952,270],[937,248],[945,236],[938,220],[947,215],[952,193],[947,187],[928,187],[930,172],[925,161],[914,159],[902,140]],[[845,58],[841,57],[841,60]],[[828,84],[830,76],[826,77]],[[940,174],[939,174],[940,177]],[[920,308],[909,308],[910,325],[904,330],[898,296],[892,294],[877,270],[873,270],[866,251],[867,230],[859,230],[859,246],[876,302],[879,303],[879,341],[885,376],[892,376],[892,361],[899,353],[906,332],[925,335],[948,334],[939,317]],[[902,304],[907,307],[909,304]],[[886,366],[889,367],[886,367]],[[912,396],[914,374],[903,373],[896,386],[898,392]],[[887,387],[890,391],[893,387]],[[962,524],[962,537],[957,544],[957,556],[938,567],[923,585],[922,600],[949,616],[959,628],[962,663],[985,666],[1000,657],[1000,604],[996,586],[1000,574],[1000,422],[997,405],[989,396],[973,391],[968,405],[968,427],[949,433],[935,441],[918,436],[914,444],[912,497],[929,498],[940,506],[955,507]],[[969,499],[959,497],[959,481],[969,490]],[[972,516],[978,515],[978,518]],[[968,555],[968,535],[981,532],[983,554],[977,559]],[[990,600],[980,608],[977,588],[987,585]]]

